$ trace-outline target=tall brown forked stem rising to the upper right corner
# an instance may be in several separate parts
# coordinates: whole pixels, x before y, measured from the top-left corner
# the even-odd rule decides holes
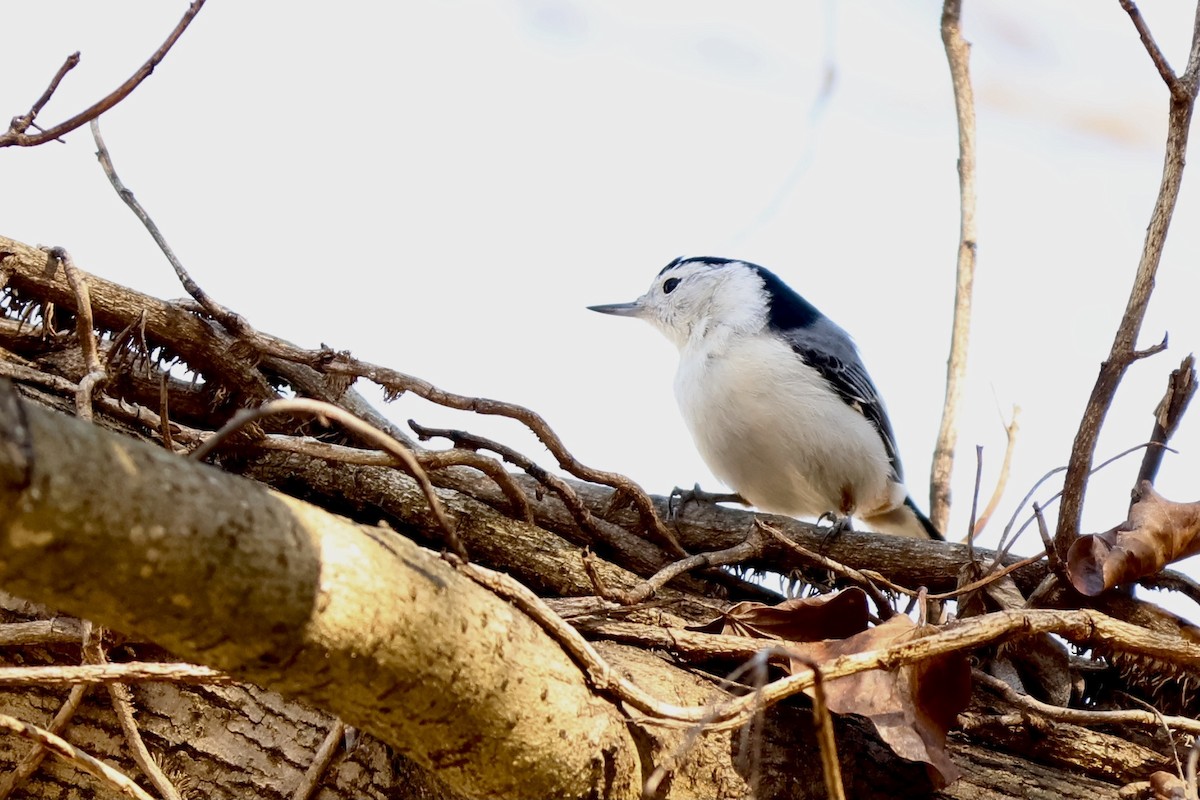
[[[1136,25],[1140,19],[1140,14],[1136,16],[1134,24]],[[1139,28],[1140,32],[1141,28]],[[1148,37],[1148,31],[1144,42],[1146,37]],[[1152,59],[1156,50],[1157,46],[1151,49]],[[1156,64],[1162,68],[1165,60],[1158,59]],[[1171,89],[1171,102],[1166,121],[1163,176],[1158,187],[1158,197],[1154,200],[1154,209],[1150,216],[1150,224],[1146,228],[1146,240],[1138,261],[1133,288],[1129,290],[1124,314],[1121,317],[1116,336],[1112,338],[1112,349],[1109,357],[1100,365],[1096,385],[1087,399],[1087,407],[1079,422],[1079,432],[1075,434],[1075,441],[1070,449],[1067,477],[1063,481],[1062,507],[1058,511],[1058,527],[1055,531],[1055,549],[1058,551],[1058,557],[1063,561],[1067,559],[1067,551],[1072,542],[1079,535],[1079,521],[1084,512],[1084,489],[1096,452],[1096,443],[1100,435],[1100,427],[1104,425],[1104,417],[1112,404],[1124,371],[1139,355],[1135,350],[1138,335],[1146,317],[1150,295],[1154,289],[1154,273],[1158,271],[1158,264],[1163,257],[1166,231],[1171,224],[1171,216],[1175,213],[1175,201],[1180,196],[1198,84],[1200,84],[1200,5],[1196,6],[1196,16],[1192,28],[1192,48],[1188,54],[1187,71],[1180,78],[1178,86],[1168,80],[1168,86]]]

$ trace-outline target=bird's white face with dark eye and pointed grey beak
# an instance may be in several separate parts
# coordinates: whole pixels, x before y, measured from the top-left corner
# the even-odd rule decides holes
[[[637,317],[682,348],[713,325],[761,325],[762,279],[740,263],[684,261],[662,270],[634,302],[589,306],[617,317]]]

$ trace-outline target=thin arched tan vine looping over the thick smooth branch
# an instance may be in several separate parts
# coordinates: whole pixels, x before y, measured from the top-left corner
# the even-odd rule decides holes
[[[455,529],[450,517],[446,516],[442,500],[438,499],[437,491],[433,488],[433,485],[430,483],[430,476],[425,474],[425,470],[416,461],[416,457],[413,456],[413,452],[370,422],[364,422],[346,409],[338,408],[332,403],[310,399],[307,397],[293,397],[288,399],[271,401],[259,405],[257,409],[241,409],[234,414],[233,419],[229,420],[229,422],[227,422],[220,431],[209,437],[203,445],[192,451],[191,457],[196,461],[203,461],[232,433],[239,431],[254,420],[260,420],[264,416],[271,416],[274,414],[293,413],[311,414],[317,417],[334,420],[342,427],[347,428],[350,433],[370,441],[380,450],[386,451],[388,455],[395,456],[404,468],[404,471],[408,473],[409,477],[416,481],[416,485],[421,487],[421,492],[425,494],[425,499],[430,504],[430,511],[433,513],[438,527],[445,535],[446,547],[463,561],[470,560],[462,545],[462,540],[458,537],[458,531]]]

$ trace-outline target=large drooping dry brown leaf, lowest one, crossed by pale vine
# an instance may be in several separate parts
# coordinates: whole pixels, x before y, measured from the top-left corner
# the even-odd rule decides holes
[[[829,658],[889,646],[928,636],[898,614],[872,628],[845,639],[792,645],[799,660],[821,663]],[[946,752],[946,734],[971,697],[971,668],[960,654],[949,654],[895,670],[871,669],[830,680],[826,702],[834,714],[857,714],[871,721],[880,738],[901,758],[924,762],[930,780],[941,788],[959,776]]]

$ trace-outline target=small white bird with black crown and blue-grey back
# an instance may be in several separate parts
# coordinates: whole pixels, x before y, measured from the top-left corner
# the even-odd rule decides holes
[[[679,349],[674,393],[713,474],[760,511],[942,540],[913,503],[854,341],[766,267],[677,258],[632,302]]]

